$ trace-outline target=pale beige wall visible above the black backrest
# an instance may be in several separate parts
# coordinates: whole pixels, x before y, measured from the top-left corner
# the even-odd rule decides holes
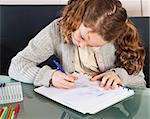
[[[0,0],[0,4],[64,5],[68,0]],[[129,16],[150,16],[150,0],[120,0]]]

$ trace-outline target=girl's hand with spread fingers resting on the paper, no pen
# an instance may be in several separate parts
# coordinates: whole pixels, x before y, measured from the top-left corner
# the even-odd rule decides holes
[[[104,89],[115,89],[118,84],[123,85],[122,80],[118,77],[118,75],[114,71],[106,71],[102,74],[94,76],[92,81],[100,80],[100,87]]]

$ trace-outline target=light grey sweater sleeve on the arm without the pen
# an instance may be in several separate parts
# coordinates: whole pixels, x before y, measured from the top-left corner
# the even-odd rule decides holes
[[[129,75],[124,68],[113,68],[111,70],[115,71],[126,86],[131,88],[146,88],[143,71],[140,71],[137,75]]]

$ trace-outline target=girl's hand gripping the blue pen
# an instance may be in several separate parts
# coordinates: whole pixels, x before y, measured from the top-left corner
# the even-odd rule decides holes
[[[75,85],[75,80],[78,78],[69,74],[56,71],[52,76],[52,84],[57,88],[71,88]]]

